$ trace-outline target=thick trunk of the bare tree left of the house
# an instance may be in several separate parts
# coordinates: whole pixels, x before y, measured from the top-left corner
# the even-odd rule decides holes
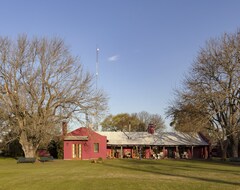
[[[19,143],[22,145],[25,157],[35,157],[38,146],[34,146],[31,141],[29,142],[24,131],[21,133]]]

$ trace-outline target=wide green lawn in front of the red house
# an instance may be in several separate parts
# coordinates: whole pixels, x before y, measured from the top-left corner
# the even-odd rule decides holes
[[[0,190],[240,190],[240,165],[194,160],[54,160],[17,164],[0,159]]]

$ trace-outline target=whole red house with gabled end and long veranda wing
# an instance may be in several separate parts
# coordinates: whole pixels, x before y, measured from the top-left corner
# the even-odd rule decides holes
[[[64,136],[64,159],[207,159],[209,144],[200,134],[180,132],[95,132],[78,128]]]

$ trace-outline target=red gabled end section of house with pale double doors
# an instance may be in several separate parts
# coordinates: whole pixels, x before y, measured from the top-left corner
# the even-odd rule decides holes
[[[64,135],[64,160],[106,158],[107,138],[90,128],[78,128]]]

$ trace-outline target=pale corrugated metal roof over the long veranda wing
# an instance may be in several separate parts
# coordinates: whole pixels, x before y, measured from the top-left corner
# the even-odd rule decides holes
[[[108,145],[165,145],[196,146],[208,145],[197,133],[164,132],[149,134],[148,132],[98,132],[106,136]]]

